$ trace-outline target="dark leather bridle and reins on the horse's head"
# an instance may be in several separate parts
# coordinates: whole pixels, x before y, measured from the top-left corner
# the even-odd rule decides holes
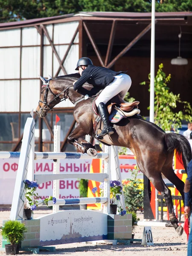
[[[41,109],[42,111],[49,111],[49,110],[51,110],[53,107],[50,107],[50,104],[51,104],[53,101],[57,101],[58,99],[60,100],[60,102],[66,100],[66,99],[69,99],[69,100],[74,104],[74,102],[73,102],[73,101],[70,99],[70,97],[69,97],[69,88],[72,87],[73,84],[70,85],[69,87],[67,87],[67,88],[66,88],[65,90],[63,90],[61,93],[55,94],[55,93],[52,92],[52,90],[51,90],[50,87],[49,87],[49,81],[50,81],[50,80],[51,80],[51,79],[49,79],[47,83],[44,83],[44,84],[42,85],[42,88],[45,87],[45,94],[44,94],[44,101],[39,100],[39,107],[40,107],[40,109]],[[48,96],[48,93],[49,93],[49,92],[54,96],[54,98],[53,98],[50,102],[47,102],[47,96]],[[43,93],[43,91],[42,91],[42,93]],[[61,96],[62,93],[64,93],[64,95],[63,95],[63,98],[60,99],[59,97]],[[40,102],[44,104],[44,107],[43,107],[43,108],[41,108]]]

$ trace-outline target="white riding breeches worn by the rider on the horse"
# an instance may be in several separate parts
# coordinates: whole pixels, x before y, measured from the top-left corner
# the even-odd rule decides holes
[[[119,93],[121,99],[124,99],[126,93],[131,87],[131,78],[126,74],[119,74],[115,76],[115,79],[105,87],[104,90],[99,94],[96,99],[96,106],[98,107],[99,103],[103,102],[106,104],[110,99],[116,96]]]

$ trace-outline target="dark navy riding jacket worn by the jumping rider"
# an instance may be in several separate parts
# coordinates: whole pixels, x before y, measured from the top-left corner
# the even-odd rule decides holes
[[[114,80],[115,76],[121,73],[125,72],[115,72],[106,67],[89,65],[85,70],[83,70],[81,77],[74,84],[74,90],[78,90],[85,82],[93,85],[93,87],[99,86],[105,88]]]

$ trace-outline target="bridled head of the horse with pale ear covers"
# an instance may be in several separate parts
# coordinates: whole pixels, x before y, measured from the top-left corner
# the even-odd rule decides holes
[[[39,100],[39,105],[36,109],[36,113],[39,117],[47,116],[47,112],[55,107],[61,99],[64,99],[65,93],[61,90],[61,87],[55,79],[45,79],[41,77],[43,81],[43,86],[41,90],[41,98]],[[63,96],[61,95],[63,94]]]

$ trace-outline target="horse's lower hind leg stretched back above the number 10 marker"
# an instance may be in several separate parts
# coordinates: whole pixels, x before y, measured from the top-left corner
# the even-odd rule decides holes
[[[177,231],[179,236],[181,236],[183,234],[183,227],[178,226],[178,220],[175,216],[175,212],[173,209],[171,190],[164,183],[161,174],[156,177],[149,177],[149,179],[152,180],[154,187],[161,193],[162,197],[165,199],[169,211],[169,219],[171,221],[171,224],[173,225],[173,227],[175,227],[175,230]]]

